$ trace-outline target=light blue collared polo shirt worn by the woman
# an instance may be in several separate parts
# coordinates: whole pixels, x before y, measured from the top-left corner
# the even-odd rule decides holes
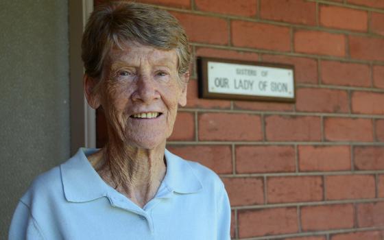
[[[140,208],[104,180],[79,149],[21,197],[9,239],[230,239],[230,204],[210,169],[165,151],[167,172]]]

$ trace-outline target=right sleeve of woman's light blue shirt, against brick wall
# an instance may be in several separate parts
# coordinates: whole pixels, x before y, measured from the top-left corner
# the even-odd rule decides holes
[[[218,204],[217,217],[219,226],[217,228],[217,240],[230,240],[230,203],[224,184]]]

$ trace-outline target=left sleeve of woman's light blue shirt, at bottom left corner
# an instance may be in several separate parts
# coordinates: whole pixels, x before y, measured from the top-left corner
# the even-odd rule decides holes
[[[44,239],[40,228],[31,215],[29,207],[19,202],[12,217],[8,240],[40,240]]]

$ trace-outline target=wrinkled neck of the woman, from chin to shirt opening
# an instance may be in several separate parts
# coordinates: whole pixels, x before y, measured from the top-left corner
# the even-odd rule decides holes
[[[149,150],[109,142],[88,160],[107,184],[143,208],[165,176],[164,152],[165,143]]]

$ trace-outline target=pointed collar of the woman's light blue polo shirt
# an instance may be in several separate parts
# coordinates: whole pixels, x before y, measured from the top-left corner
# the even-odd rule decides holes
[[[60,165],[64,195],[69,202],[88,202],[110,195],[112,189],[93,169],[86,158],[97,149],[80,148],[77,153]],[[202,189],[191,165],[165,149],[167,172],[163,180],[169,191],[176,193],[195,193]]]

